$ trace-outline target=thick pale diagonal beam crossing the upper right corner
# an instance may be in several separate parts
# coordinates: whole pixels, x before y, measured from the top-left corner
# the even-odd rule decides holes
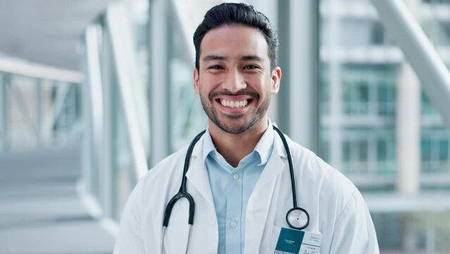
[[[450,72],[445,63],[402,0],[372,0],[372,4],[450,128]]]

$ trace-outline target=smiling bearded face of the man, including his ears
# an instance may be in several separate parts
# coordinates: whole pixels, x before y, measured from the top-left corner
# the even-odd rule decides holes
[[[223,25],[204,36],[194,90],[210,123],[222,131],[240,134],[264,124],[280,78],[280,68],[270,70],[268,44],[260,31]]]

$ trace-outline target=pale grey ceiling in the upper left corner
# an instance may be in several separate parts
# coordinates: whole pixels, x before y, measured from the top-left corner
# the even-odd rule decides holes
[[[0,56],[80,70],[83,29],[111,0],[0,0]]]

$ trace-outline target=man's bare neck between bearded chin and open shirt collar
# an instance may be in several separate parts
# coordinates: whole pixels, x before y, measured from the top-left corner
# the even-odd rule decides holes
[[[208,129],[215,147],[232,167],[237,167],[239,162],[255,149],[267,128],[267,116],[240,134],[227,133],[218,128],[211,120],[208,121]]]

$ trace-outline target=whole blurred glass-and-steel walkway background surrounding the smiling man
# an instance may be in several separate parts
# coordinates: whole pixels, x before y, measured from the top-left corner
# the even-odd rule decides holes
[[[0,0],[0,253],[112,253],[147,169],[206,127],[192,35],[216,0]],[[254,0],[269,115],[363,193],[382,253],[450,253],[450,1]]]

